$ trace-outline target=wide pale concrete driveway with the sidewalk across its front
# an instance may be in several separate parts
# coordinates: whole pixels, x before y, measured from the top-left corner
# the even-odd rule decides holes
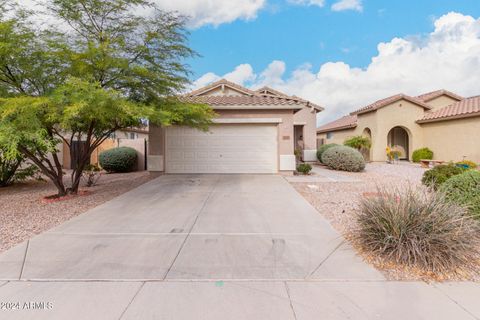
[[[478,319],[479,294],[386,282],[275,175],[162,176],[0,255],[8,319]]]

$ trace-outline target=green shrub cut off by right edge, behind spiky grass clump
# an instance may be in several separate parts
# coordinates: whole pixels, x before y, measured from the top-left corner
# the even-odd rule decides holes
[[[480,219],[480,172],[469,170],[448,179],[439,189],[447,200],[465,207]]]

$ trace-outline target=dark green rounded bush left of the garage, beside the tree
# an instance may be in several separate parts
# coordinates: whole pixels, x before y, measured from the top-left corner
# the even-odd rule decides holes
[[[137,151],[129,147],[113,148],[99,155],[100,166],[108,172],[130,172],[137,164]]]

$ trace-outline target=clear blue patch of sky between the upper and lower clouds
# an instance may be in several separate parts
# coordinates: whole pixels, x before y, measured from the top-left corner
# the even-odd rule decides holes
[[[248,63],[255,70],[282,60],[287,73],[328,61],[365,67],[379,42],[431,32],[436,18],[450,11],[480,16],[478,0],[363,1],[363,11],[334,12],[323,7],[270,1],[257,18],[191,31],[190,44],[202,55],[189,61],[195,77],[225,74]]]

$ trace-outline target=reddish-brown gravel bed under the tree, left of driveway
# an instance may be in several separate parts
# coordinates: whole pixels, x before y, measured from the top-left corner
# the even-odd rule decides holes
[[[84,195],[54,202],[44,199],[56,193],[50,182],[29,181],[0,188],[0,252],[153,178],[146,171],[104,174],[96,186],[81,188]]]

